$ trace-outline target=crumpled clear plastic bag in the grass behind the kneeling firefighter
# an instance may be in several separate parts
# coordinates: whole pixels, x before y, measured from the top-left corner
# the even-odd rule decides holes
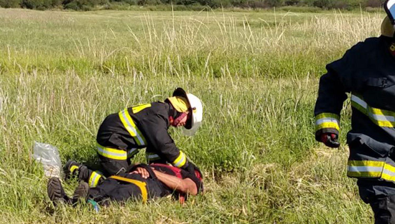
[[[60,178],[62,162],[60,161],[58,148],[35,141],[32,157],[43,164],[45,176]]]

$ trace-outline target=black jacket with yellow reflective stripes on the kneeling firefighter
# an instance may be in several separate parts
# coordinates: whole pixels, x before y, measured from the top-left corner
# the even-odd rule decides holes
[[[139,149],[146,149],[148,162],[169,162],[181,168],[187,162],[167,129],[169,115],[176,111],[168,103],[152,102],[126,108],[111,114],[101,124],[98,135],[98,153],[106,158],[126,160]]]

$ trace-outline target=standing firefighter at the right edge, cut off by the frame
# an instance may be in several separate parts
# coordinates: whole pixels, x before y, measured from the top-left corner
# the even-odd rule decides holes
[[[316,140],[337,148],[340,111],[351,93],[347,175],[358,179],[359,195],[371,205],[376,224],[395,224],[394,3],[385,4],[381,36],[357,43],[326,66],[314,110]]]

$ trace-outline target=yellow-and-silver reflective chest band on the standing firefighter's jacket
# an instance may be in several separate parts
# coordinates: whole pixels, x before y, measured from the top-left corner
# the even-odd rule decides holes
[[[351,95],[351,105],[369,117],[373,123],[380,127],[395,127],[395,112],[369,106],[362,96]]]

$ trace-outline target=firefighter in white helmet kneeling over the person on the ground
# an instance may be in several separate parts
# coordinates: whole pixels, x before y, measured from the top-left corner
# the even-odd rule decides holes
[[[183,126],[183,133],[191,136],[198,130],[203,118],[203,106],[198,97],[177,88],[165,102],[152,102],[125,108],[108,115],[100,125],[97,153],[106,176],[124,173],[130,160],[146,149],[147,163],[171,164],[192,172],[195,165],[180,151],[167,129]],[[75,174],[80,167],[74,161],[65,166],[66,176]],[[89,174],[89,185],[95,187],[103,174]],[[84,179],[87,177],[84,177]]]

